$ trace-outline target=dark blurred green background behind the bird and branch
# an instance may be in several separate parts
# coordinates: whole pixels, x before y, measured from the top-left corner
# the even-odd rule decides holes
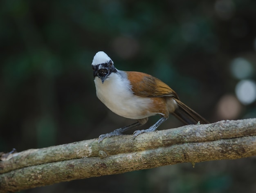
[[[91,63],[100,50],[119,70],[161,79],[210,122],[256,117],[255,10],[254,0],[0,1],[0,152],[97,138],[134,122],[97,99]],[[178,126],[170,117],[159,129]],[[254,193],[255,173],[250,157],[22,192]]]

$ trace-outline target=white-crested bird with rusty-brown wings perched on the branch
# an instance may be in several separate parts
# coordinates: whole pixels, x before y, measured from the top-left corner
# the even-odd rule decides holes
[[[148,117],[159,114],[160,119],[148,129],[135,130],[133,139],[145,132],[153,132],[173,114],[184,124],[207,124],[206,119],[182,103],[176,92],[166,83],[143,72],[118,70],[112,59],[103,51],[95,54],[92,70],[96,95],[112,112],[121,117],[137,120],[128,126],[99,136],[103,139],[124,135],[126,130],[137,128]]]

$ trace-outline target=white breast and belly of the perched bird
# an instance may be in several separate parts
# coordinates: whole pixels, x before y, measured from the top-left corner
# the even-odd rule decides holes
[[[101,102],[122,117],[142,119],[157,114],[147,111],[152,104],[150,98],[132,93],[130,82],[124,71],[118,70],[117,73],[111,73],[104,83],[99,77],[95,77],[94,83],[96,94]]]

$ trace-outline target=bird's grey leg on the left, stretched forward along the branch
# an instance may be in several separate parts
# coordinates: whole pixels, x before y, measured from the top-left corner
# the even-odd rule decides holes
[[[114,130],[114,131],[112,131],[112,132],[110,132],[110,133],[100,135],[98,142],[100,143],[103,139],[108,138],[108,137],[117,136],[117,135],[123,135],[123,132],[125,132],[125,131],[127,131],[127,130],[129,130],[129,129],[138,127],[138,126],[142,126],[142,125],[144,125],[147,121],[148,121],[148,118],[138,119],[136,123],[132,123],[132,124],[130,124],[130,125],[128,125],[128,126],[125,126],[125,127],[119,128],[119,129],[116,129],[116,130]]]

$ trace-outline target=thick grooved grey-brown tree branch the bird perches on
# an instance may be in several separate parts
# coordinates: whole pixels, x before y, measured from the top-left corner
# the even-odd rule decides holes
[[[0,192],[182,162],[256,155],[256,119],[187,125],[139,135],[74,142],[0,157]]]

